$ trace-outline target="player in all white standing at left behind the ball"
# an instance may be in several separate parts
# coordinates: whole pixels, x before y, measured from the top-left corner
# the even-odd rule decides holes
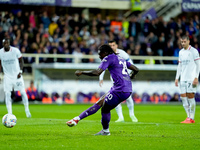
[[[0,72],[4,72],[4,92],[8,114],[12,114],[11,91],[20,91],[25,107],[26,117],[30,118],[29,102],[26,95],[24,80],[22,77],[23,58],[18,48],[10,46],[8,38],[2,41],[3,48],[0,49]],[[1,80],[1,78],[0,78]]]

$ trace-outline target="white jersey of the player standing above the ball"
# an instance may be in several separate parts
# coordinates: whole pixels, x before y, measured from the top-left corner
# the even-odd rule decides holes
[[[22,57],[22,54],[18,48],[10,46],[10,50],[8,52],[6,52],[4,48],[0,49],[0,60],[5,77],[17,79],[17,75],[20,72],[20,57]]]

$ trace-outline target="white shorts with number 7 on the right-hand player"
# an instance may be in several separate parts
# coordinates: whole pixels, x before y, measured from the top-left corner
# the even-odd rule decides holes
[[[196,93],[197,86],[193,86],[193,81],[181,81],[180,82],[180,90],[181,94],[185,93]]]

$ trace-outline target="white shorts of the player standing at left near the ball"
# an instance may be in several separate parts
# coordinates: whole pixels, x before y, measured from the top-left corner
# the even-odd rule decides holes
[[[4,92],[25,90],[23,77],[19,79],[10,79],[4,76]]]

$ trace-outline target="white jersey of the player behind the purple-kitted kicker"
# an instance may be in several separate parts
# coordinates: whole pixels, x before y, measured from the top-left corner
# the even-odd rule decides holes
[[[122,57],[123,59],[125,59],[126,61],[130,62],[131,64],[133,64],[133,61],[130,59],[129,55],[122,49],[117,49],[116,53]],[[128,73],[130,74],[131,73],[131,70],[128,69]],[[101,75],[99,76],[99,80],[103,80],[103,77],[104,77],[104,74],[105,74],[105,71],[103,71],[101,73]],[[112,80],[112,78],[111,78]]]

